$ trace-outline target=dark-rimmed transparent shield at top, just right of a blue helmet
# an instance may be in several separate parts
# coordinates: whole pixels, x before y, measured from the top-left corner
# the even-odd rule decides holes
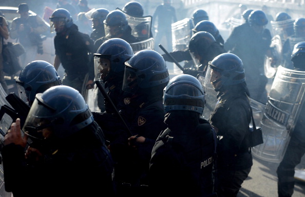
[[[152,16],[131,16],[126,12],[117,8],[117,10],[122,11],[127,18],[128,25],[131,27],[131,34],[137,37],[139,40],[147,40],[151,37],[151,19]]]

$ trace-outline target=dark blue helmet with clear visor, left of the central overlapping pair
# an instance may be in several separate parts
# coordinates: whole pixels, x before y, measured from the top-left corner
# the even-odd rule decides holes
[[[102,43],[97,53],[94,53],[94,73],[96,73],[96,79],[101,76],[101,71],[107,69],[106,78],[113,76],[120,76],[123,79],[125,70],[125,61],[127,61],[134,52],[129,43],[121,38],[110,38]],[[106,58],[110,61],[109,65],[104,65],[100,58]]]

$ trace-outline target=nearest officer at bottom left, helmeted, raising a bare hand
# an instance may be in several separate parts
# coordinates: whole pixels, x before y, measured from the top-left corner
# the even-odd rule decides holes
[[[37,94],[22,130],[16,119],[5,136],[6,191],[14,196],[115,194],[102,129],[77,90],[56,85]],[[28,138],[33,143],[25,154]]]

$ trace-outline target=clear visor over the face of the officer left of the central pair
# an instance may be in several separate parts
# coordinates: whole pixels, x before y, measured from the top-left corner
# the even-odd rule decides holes
[[[103,80],[110,71],[110,60],[105,57],[94,56],[94,76]]]

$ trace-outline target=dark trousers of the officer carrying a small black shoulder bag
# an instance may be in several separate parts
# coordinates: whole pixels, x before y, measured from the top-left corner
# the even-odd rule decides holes
[[[217,170],[217,196],[236,197],[251,167],[245,170]]]

